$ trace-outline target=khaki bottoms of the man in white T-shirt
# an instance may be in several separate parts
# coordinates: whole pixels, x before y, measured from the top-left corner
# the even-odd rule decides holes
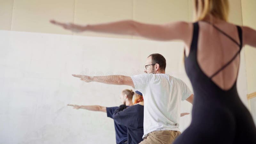
[[[179,131],[150,132],[140,144],[172,144],[180,134]]]

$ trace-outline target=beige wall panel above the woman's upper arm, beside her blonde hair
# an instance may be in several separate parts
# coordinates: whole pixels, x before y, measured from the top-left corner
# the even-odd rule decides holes
[[[188,0],[135,0],[134,20],[162,24],[188,21]]]

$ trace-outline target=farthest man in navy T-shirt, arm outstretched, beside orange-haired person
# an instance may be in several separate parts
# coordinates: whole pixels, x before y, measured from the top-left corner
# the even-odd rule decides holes
[[[132,97],[134,95],[134,92],[132,90],[123,90],[120,94],[120,100],[121,103],[127,107],[132,106]],[[72,106],[74,109],[86,109],[91,111],[101,111],[107,113],[107,116],[114,119],[112,117],[114,111],[118,107],[104,107],[99,105],[93,105],[93,106],[79,106],[74,104],[68,104],[68,106]],[[116,144],[127,144],[127,128],[126,126],[117,124],[114,120],[114,126],[116,131]]]

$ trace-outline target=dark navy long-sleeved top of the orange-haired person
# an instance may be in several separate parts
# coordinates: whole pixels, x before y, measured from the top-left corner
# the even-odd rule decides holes
[[[120,106],[113,114],[113,119],[117,124],[127,127],[128,144],[138,144],[143,140],[143,118],[144,106],[139,104],[130,106],[124,110]]]

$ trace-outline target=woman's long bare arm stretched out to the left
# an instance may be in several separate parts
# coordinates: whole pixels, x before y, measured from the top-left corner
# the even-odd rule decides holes
[[[73,23],[57,22],[55,20],[51,20],[50,22],[73,32],[92,31],[118,35],[133,35],[159,41],[177,39],[187,42],[191,39],[190,35],[192,34],[192,24],[183,21],[168,24],[146,24],[133,20],[122,20],[92,25],[76,25]]]

